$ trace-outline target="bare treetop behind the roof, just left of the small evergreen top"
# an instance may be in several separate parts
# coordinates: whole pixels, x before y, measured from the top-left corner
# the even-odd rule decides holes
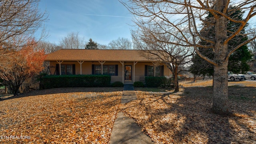
[[[78,32],[68,33],[68,35],[60,40],[60,46],[64,49],[83,49],[85,46],[84,37],[80,37]]]

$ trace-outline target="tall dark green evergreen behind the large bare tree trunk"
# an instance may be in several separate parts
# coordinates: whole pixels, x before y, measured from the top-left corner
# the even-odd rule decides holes
[[[235,12],[231,11],[230,13],[231,13],[230,15],[236,17],[237,20],[243,19],[242,16],[243,16],[244,12],[242,12],[241,10],[236,10]],[[212,18],[213,18],[212,14],[208,14],[208,16],[206,18],[207,20],[203,24],[203,28],[200,31],[200,33],[202,35],[204,35],[204,37],[209,38],[209,39],[212,39],[213,37],[215,37],[214,26],[207,26],[207,22],[213,20]],[[234,31],[236,31],[236,29],[239,28],[239,26],[240,26],[240,23],[228,21],[227,36],[230,36],[230,34],[232,34]],[[246,26],[241,31],[242,34],[245,33],[245,28],[246,28]],[[241,44],[242,42],[244,42],[247,39],[248,39],[247,37],[244,37],[241,35],[235,36],[234,38],[232,38],[232,40],[230,40],[228,42],[228,49],[232,49],[233,47],[238,46],[239,44]],[[200,44],[211,45],[210,42],[207,42],[207,39],[201,40]],[[209,48],[209,49],[199,48],[199,50],[200,50],[200,52],[202,52],[202,54],[204,54],[208,58],[214,59],[214,52],[213,52],[212,48]],[[234,73],[246,72],[250,69],[248,62],[251,60],[252,60],[252,53],[250,52],[250,50],[248,49],[248,47],[246,45],[243,45],[230,55],[230,57],[228,59],[228,71],[232,71]],[[213,71],[214,71],[213,65],[206,62],[204,59],[202,59],[200,56],[198,56],[198,54],[195,54],[195,56],[192,59],[192,62],[193,62],[193,64],[190,68],[190,71],[194,75],[196,75],[196,76],[200,76],[200,75],[213,76]]]

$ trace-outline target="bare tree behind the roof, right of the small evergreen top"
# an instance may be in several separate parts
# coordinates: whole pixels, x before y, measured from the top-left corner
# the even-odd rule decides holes
[[[130,50],[132,49],[132,42],[128,38],[118,38],[112,40],[108,46],[114,50]]]

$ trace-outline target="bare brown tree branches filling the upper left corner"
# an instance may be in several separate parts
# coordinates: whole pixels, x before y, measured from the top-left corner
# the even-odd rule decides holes
[[[46,11],[38,9],[40,0],[1,0],[0,45],[1,49],[20,47],[34,37],[34,32],[47,20]],[[46,36],[44,28],[40,37]]]

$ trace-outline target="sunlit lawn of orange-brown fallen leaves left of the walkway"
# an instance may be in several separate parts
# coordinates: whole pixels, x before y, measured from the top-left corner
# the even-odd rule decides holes
[[[122,88],[58,88],[0,101],[0,143],[107,143]],[[8,136],[8,137],[7,137]]]

